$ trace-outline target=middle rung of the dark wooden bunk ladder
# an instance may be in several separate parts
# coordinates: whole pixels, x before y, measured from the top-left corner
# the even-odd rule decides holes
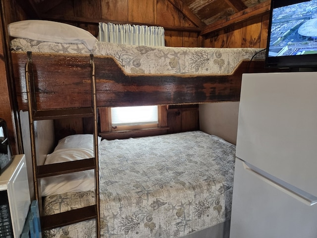
[[[95,170],[95,158],[67,161],[49,165],[40,165],[37,167],[37,178],[45,178],[55,175],[63,175],[85,170]]]

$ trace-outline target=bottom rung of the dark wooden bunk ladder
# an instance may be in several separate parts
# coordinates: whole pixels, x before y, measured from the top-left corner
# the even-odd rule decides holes
[[[71,225],[74,223],[95,219],[97,217],[96,205],[87,206],[41,217],[41,229],[51,230],[54,228]]]

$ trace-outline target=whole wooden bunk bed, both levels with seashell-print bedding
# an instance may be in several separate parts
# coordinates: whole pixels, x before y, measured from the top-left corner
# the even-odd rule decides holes
[[[28,33],[29,31],[27,29]],[[13,30],[9,29],[9,32],[11,34]],[[21,33],[21,31],[17,32]],[[96,81],[96,107],[170,105],[239,101],[242,73],[265,71],[264,55],[257,55],[261,49],[123,46],[98,41],[82,40],[78,42],[78,38],[71,43],[69,39],[56,43],[57,40],[49,42],[50,40],[45,39],[44,41],[42,38],[28,39],[23,37],[23,34],[14,35],[12,33],[11,36],[18,37],[11,41],[11,59],[18,108],[33,112],[29,102],[33,101],[36,108],[34,117],[37,119],[68,117],[69,109],[82,108],[89,108],[89,113],[78,111],[77,116],[91,115],[91,78]],[[256,60],[253,60],[255,55],[257,55]],[[28,96],[27,90],[26,75],[28,74],[25,73],[27,63],[32,64],[30,69],[27,68],[34,80],[31,89],[34,91],[32,97]],[[58,115],[50,116],[50,112],[56,110]],[[43,114],[45,116],[42,117]],[[170,141],[167,143],[168,139]],[[159,144],[157,141],[161,140],[162,145],[159,147],[161,151],[163,151],[162,148],[176,149],[175,145],[179,150],[173,154],[170,154],[169,151],[168,153],[163,152],[163,154],[169,155],[167,158],[161,155],[155,159],[149,156],[141,158],[141,154],[153,155],[154,148],[150,145],[145,146],[148,145],[146,143],[149,140],[153,140],[152,144]],[[95,133],[95,144],[96,141]],[[144,149],[150,149],[150,152],[143,151],[140,154],[131,152],[128,154],[131,154],[132,158],[128,158],[128,154],[123,155],[122,151],[133,148],[130,144],[131,141],[141,145]],[[193,144],[190,145],[189,142]],[[61,229],[51,227],[53,230],[46,233],[48,237],[56,234],[68,236],[70,233],[75,234],[74,236],[86,234],[88,237],[94,237],[92,235],[95,232],[93,227],[99,227],[98,230],[101,234],[98,236],[103,237],[148,238],[164,234],[162,237],[187,235],[192,238],[202,229],[212,228],[229,220],[234,145],[203,132],[149,137],[144,140],[142,138],[103,140],[97,144],[98,146],[94,147],[95,154],[93,150],[90,150],[91,148],[88,150],[88,154],[92,153],[88,157],[97,158],[96,148],[99,151],[100,162],[98,164],[97,160],[95,169],[98,171],[99,167],[100,184],[99,181],[97,184],[94,183],[94,188],[96,189],[97,186],[97,190],[94,192],[93,187],[85,186],[85,189],[80,191],[46,193],[43,213],[46,215],[58,214],[84,206],[84,202],[92,205],[94,202],[96,203],[95,199],[98,195],[98,197],[100,196],[98,199],[98,203],[100,202],[99,224],[95,224],[94,220],[81,221],[78,224],[84,225],[79,225],[81,227],[79,230],[78,224],[67,224],[69,226]],[[183,149],[181,149],[181,144],[183,144]],[[169,147],[170,145],[172,148]],[[206,150],[205,152],[196,151],[200,147],[204,147],[207,152]],[[188,148],[195,150],[188,150]],[[48,152],[47,160],[37,163],[40,166],[49,163],[49,159],[54,157],[54,153],[67,154],[68,149],[69,147],[58,149],[57,145],[53,156]],[[81,150],[86,150],[85,153],[87,153],[85,146],[76,149],[80,150],[80,152],[77,151],[79,154],[83,153]],[[111,154],[115,150],[121,154]],[[141,151],[140,147],[135,151]],[[71,153],[70,160],[76,160],[76,158],[74,159],[75,152]],[[194,156],[198,153],[204,154],[203,161]],[[214,154],[215,157],[211,154]],[[61,157],[57,156],[57,158]],[[130,161],[135,167],[124,164]],[[56,161],[50,163],[56,163]],[[120,163],[119,167],[126,166],[126,170],[118,168],[118,163]],[[146,166],[141,171],[138,166],[143,163]],[[151,167],[153,165],[156,165],[154,167],[157,168]],[[162,165],[166,167],[163,168]],[[192,170],[196,165],[197,171]],[[172,170],[175,168],[176,170]],[[35,167],[34,170],[36,169]],[[125,171],[123,175],[122,171]],[[156,176],[152,178],[151,174],[146,173],[149,171],[156,173]],[[105,174],[103,174],[104,172]],[[129,184],[129,179],[133,178],[132,174],[145,175],[143,180],[149,179],[150,184],[144,184],[141,181],[142,177],[137,177],[134,184]],[[158,174],[161,177],[158,177]],[[115,176],[122,176],[124,179],[118,180],[118,177]],[[189,178],[193,178],[193,180],[187,180]],[[122,183],[126,189],[130,187],[131,190],[115,187],[117,183]],[[185,189],[187,193],[180,193],[181,198],[178,198],[171,195],[170,188],[175,188],[176,191]],[[189,188],[191,190],[188,190]],[[53,189],[49,190],[53,191]],[[119,196],[119,190],[123,190],[122,195],[128,198],[127,201],[123,201]],[[165,195],[161,194],[163,190],[166,190],[171,197],[174,196],[176,200],[169,200],[171,197],[168,196],[164,197]],[[138,196],[133,197],[131,194]],[[39,194],[40,199],[41,197]],[[104,198],[110,198],[116,202],[102,203],[102,201],[106,201]],[[124,203],[130,207],[123,208]],[[162,215],[162,211],[167,213]],[[94,217],[92,216],[92,218]],[[202,218],[206,218],[206,220]],[[228,227],[221,227],[221,229],[228,230]],[[196,236],[200,237],[200,235]],[[225,236],[225,234],[221,234],[221,236]]]

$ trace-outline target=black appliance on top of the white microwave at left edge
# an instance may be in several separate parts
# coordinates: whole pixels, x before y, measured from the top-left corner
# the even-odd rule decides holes
[[[0,174],[12,162],[12,149],[9,142],[9,134],[6,122],[0,119]]]

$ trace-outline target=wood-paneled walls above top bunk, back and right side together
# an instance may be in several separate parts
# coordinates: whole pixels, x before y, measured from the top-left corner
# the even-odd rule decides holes
[[[196,27],[168,0],[64,0],[45,15],[65,19],[102,19],[105,22],[155,24],[171,27]],[[199,32],[165,29],[165,44],[172,47],[265,48],[269,14],[264,14],[236,25],[199,36]],[[93,35],[98,35],[98,25],[78,24]]]

